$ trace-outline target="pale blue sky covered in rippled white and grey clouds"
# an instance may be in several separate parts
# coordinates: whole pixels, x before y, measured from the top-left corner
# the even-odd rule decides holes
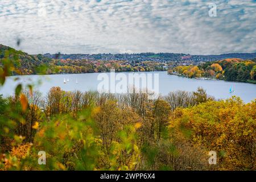
[[[31,54],[256,52],[255,21],[256,0],[0,0],[0,44]]]

